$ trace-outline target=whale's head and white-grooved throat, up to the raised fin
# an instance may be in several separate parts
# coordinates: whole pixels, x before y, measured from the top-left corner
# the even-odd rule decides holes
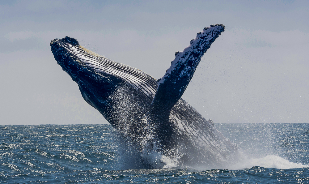
[[[118,87],[130,88],[138,93],[137,98],[151,103],[157,84],[144,72],[100,56],[69,36],[52,40],[50,46],[57,63],[78,84],[84,100],[107,120],[107,109],[113,108],[110,96]]]

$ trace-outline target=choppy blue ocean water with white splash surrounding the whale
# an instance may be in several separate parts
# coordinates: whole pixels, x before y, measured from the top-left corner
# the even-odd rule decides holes
[[[0,183],[309,183],[309,123],[215,124],[229,168],[125,169],[110,125],[0,125]]]

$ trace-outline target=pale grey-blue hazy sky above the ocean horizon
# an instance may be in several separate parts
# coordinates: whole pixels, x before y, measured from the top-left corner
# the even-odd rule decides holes
[[[309,122],[309,1],[0,1],[0,125],[102,124],[53,58],[71,36],[161,78],[224,24],[183,99],[215,123]]]

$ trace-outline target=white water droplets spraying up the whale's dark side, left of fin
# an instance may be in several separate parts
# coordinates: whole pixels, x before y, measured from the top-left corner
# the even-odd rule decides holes
[[[168,154],[169,150],[161,148],[153,132],[154,128],[147,122],[145,117],[148,111],[143,108],[143,102],[137,101],[125,87],[118,87],[110,99],[115,111],[114,121],[121,122],[121,127],[115,130],[115,138],[121,143],[118,153],[123,169],[177,166],[179,160]],[[131,112],[137,109],[140,114]]]

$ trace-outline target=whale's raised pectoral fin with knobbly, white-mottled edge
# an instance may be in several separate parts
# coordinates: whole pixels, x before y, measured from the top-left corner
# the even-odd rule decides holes
[[[158,89],[150,106],[150,116],[159,119],[169,117],[171,108],[186,90],[201,57],[221,32],[224,32],[224,25],[210,25],[197,33],[197,37],[191,40],[184,51],[175,53],[176,58],[171,62],[171,67],[157,81]]]

